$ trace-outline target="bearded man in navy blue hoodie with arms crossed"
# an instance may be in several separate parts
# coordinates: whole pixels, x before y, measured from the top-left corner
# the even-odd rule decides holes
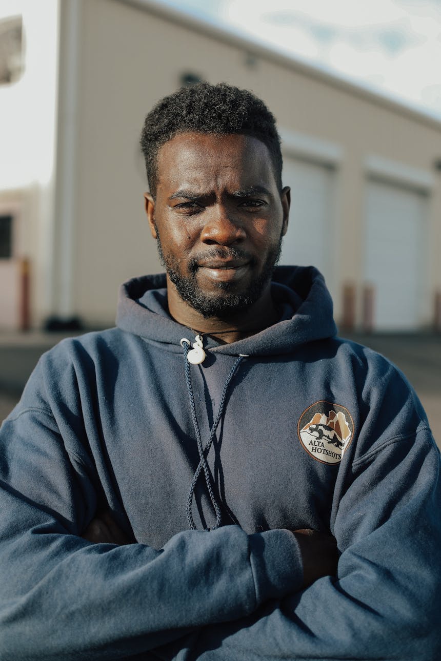
[[[439,452],[320,274],[274,271],[274,118],[203,83],[141,145],[167,275],[43,356],[2,427],[0,658],[439,658]]]

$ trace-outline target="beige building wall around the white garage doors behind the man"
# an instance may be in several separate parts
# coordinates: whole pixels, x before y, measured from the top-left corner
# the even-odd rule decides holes
[[[441,157],[441,123],[257,47],[250,58],[247,44],[204,35],[147,6],[119,0],[74,2],[79,58],[75,153],[70,193],[59,192],[57,202],[57,222],[63,225],[64,200],[73,202],[74,222],[54,274],[60,283],[58,300],[70,300],[72,313],[91,325],[112,323],[118,285],[161,270],[143,214],[146,183],[138,140],[153,103],[177,89],[182,73],[192,71],[263,98],[282,132],[294,134],[291,152],[318,161],[326,160],[327,153],[338,154],[331,157],[337,182],[332,246],[337,321],[345,283],[356,287],[356,321],[361,319],[368,175],[378,176],[382,167],[381,176],[427,190],[428,303],[421,324],[430,324],[432,299],[441,290],[441,192],[433,167]],[[61,3],[64,13],[69,3]],[[59,122],[62,151],[62,117]]]

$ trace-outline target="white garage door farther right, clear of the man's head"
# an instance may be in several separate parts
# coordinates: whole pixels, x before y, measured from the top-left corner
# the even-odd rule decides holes
[[[421,319],[426,196],[371,181],[367,190],[365,282],[374,288],[374,329],[412,331]]]

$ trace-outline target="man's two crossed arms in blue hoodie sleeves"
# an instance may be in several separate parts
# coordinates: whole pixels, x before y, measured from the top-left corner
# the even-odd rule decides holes
[[[299,531],[184,531],[159,551],[82,538],[97,484],[68,437],[40,408],[1,430],[2,660],[440,656],[439,455],[427,428],[354,465],[332,528],[337,574],[322,564],[332,540]]]

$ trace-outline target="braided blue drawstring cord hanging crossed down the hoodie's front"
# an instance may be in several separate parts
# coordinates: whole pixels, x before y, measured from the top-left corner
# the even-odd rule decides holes
[[[198,478],[200,476],[201,471],[204,471],[204,477],[207,485],[207,490],[208,494],[210,496],[210,500],[212,501],[212,505],[214,508],[214,511],[216,512],[216,524],[211,527],[211,528],[206,528],[207,531],[215,530],[220,526],[221,523],[221,510],[218,501],[216,500],[216,496],[213,491],[212,487],[212,480],[210,477],[210,470],[208,469],[208,464],[206,461],[206,457],[208,456],[208,452],[210,451],[210,447],[212,446],[212,442],[214,440],[214,435],[216,434],[216,429],[218,428],[218,424],[221,420],[223,410],[225,408],[225,398],[227,396],[227,389],[228,386],[231,382],[231,379],[234,376],[234,373],[236,369],[239,367],[241,364],[244,356],[239,356],[231,368],[231,371],[229,375],[227,376],[227,379],[225,381],[225,385],[223,386],[222,394],[221,394],[221,399],[220,399],[220,404],[219,404],[219,410],[218,414],[216,415],[216,418],[213,422],[212,428],[210,430],[210,436],[208,437],[207,444],[205,448],[202,447],[202,439],[200,436],[200,430],[199,430],[199,425],[198,425],[198,418],[196,417],[196,407],[194,405],[194,395],[193,395],[193,389],[192,389],[192,384],[191,384],[191,377],[190,377],[190,362],[188,362],[188,347],[190,346],[190,342],[188,340],[181,341],[182,348],[184,349],[184,370],[185,370],[185,381],[187,385],[187,391],[188,391],[188,398],[190,399],[190,410],[192,414],[192,420],[193,420],[193,426],[194,426],[194,433],[196,434],[196,443],[198,445],[198,453],[199,453],[199,463],[198,467],[196,468],[196,471],[194,472],[193,479],[190,485],[190,490],[188,491],[188,496],[187,496],[187,507],[186,507],[186,512],[187,512],[187,520],[188,520],[188,525],[190,525],[190,529],[196,530],[196,524],[194,523],[193,520],[193,515],[192,515],[192,500],[193,500],[193,495],[194,495],[194,489],[196,488],[196,483],[198,481]]]

